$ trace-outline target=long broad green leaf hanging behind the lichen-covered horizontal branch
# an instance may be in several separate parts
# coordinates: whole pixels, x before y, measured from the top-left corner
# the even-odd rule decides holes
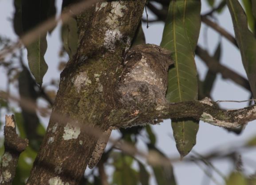
[[[201,3],[198,0],[173,0],[165,22],[161,46],[173,53],[174,67],[168,72],[166,98],[170,102],[197,99],[197,69],[194,50],[200,31]],[[181,157],[196,143],[197,121],[172,120],[173,135]]]

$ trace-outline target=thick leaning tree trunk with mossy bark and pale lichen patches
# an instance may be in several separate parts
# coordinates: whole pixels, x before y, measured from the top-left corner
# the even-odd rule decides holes
[[[78,52],[61,74],[47,133],[27,184],[79,184],[98,139],[83,125],[102,130],[111,125],[108,117],[117,101],[122,60],[144,5],[145,0],[103,2],[77,17]]]

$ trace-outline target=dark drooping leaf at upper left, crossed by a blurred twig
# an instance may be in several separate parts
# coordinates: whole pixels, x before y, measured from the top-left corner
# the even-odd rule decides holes
[[[54,15],[55,0],[22,0],[22,30],[24,33],[32,30]],[[43,83],[43,76],[48,68],[44,60],[44,54],[47,49],[46,35],[41,34],[34,42],[26,45],[30,71],[40,86]]]

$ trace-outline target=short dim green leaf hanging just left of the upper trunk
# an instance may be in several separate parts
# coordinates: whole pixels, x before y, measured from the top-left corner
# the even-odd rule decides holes
[[[63,47],[71,59],[78,47],[78,26],[76,19],[71,17],[61,27]]]

